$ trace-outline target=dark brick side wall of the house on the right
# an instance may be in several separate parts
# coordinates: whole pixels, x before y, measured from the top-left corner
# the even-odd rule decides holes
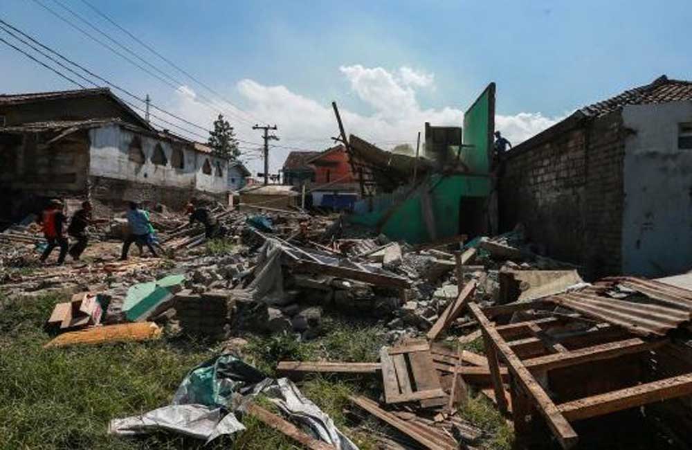
[[[500,229],[524,224],[540,251],[583,265],[589,278],[619,273],[620,130],[611,114],[510,152],[498,181]]]

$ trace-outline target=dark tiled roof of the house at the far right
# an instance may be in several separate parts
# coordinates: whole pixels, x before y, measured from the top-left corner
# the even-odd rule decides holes
[[[692,100],[692,82],[670,80],[662,75],[650,84],[635,87],[623,93],[581,108],[586,116],[598,117],[617,111],[624,105],[646,105],[648,103]]]

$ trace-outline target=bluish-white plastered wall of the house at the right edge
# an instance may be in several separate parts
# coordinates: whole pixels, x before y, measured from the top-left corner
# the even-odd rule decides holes
[[[623,273],[665,276],[692,268],[692,150],[678,150],[678,124],[692,102],[626,106]],[[607,255],[605,255],[607,257]]]

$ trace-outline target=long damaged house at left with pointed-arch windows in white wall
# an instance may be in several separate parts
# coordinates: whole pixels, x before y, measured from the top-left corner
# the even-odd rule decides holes
[[[159,132],[109,89],[0,96],[2,215],[42,199],[127,199],[181,208],[224,201],[228,162],[206,145]]]

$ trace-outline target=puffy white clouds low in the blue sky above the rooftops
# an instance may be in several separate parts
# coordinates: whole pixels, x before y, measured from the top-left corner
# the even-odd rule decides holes
[[[391,149],[404,143],[415,147],[417,132],[423,131],[426,122],[434,125],[462,125],[462,109],[423,109],[419,105],[416,89],[433,88],[435,77],[432,73],[415,71],[410,67],[401,67],[399,71],[392,72],[382,67],[367,68],[360,64],[341,66],[339,70],[349,81],[352,92],[372,109],[371,114],[358,114],[340,107],[347,133],[358,134],[383,148]],[[245,152],[243,157],[253,173],[262,170],[260,153],[256,151],[262,139],[260,132],[251,128],[257,118],[271,120],[272,125],[275,123],[279,127],[276,134],[281,141],[273,144],[282,147],[271,148],[272,172],[279,170],[286,155],[294,150],[286,147],[323,150],[334,145],[330,138],[338,135],[338,127],[329,103],[317,102],[281,85],[266,86],[250,79],[237,82],[236,89],[248,108],[244,113],[231,109],[233,114],[225,115],[235,127],[239,138],[256,143],[241,144]],[[217,110],[200,102],[190,87],[179,88],[173,103],[174,106],[170,108],[172,111],[194,123],[211,126],[217,116]],[[224,109],[228,110],[230,107]],[[558,120],[561,118],[549,118],[540,113],[529,112],[513,116],[497,115],[495,129],[502,131],[503,136],[516,145]],[[199,129],[196,131],[205,134]],[[255,150],[249,150],[248,147]]]

